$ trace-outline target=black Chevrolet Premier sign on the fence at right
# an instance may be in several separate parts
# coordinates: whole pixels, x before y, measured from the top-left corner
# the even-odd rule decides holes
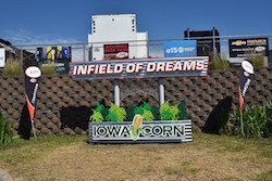
[[[230,57],[246,57],[248,55],[269,54],[268,38],[230,39]]]

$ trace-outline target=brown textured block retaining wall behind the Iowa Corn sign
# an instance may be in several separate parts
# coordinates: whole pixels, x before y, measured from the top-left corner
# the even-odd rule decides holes
[[[121,106],[141,100],[159,106],[158,79],[120,80]],[[245,104],[262,104],[271,100],[272,66],[257,68]],[[74,81],[69,75],[42,76],[38,91],[35,127],[38,133],[86,133],[91,107],[106,100],[114,102],[113,80]],[[193,130],[200,131],[213,107],[224,98],[238,105],[238,69],[209,70],[207,77],[164,78],[165,100],[170,104],[184,101],[193,120]],[[133,94],[137,92],[137,94]],[[14,132],[25,104],[24,79],[0,77],[0,109],[13,121]],[[71,120],[71,118],[73,118]]]

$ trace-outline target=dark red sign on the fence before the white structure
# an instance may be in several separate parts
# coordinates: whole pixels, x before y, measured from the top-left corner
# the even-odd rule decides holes
[[[104,60],[128,59],[128,43],[125,44],[104,44]]]

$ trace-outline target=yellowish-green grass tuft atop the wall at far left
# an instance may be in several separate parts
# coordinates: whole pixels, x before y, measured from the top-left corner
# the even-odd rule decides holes
[[[20,76],[20,75],[21,75],[20,61],[8,60],[3,68],[3,76]]]

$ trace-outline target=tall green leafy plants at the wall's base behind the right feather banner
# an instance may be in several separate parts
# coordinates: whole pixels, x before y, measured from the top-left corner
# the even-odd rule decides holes
[[[240,113],[237,109],[230,118],[236,125],[235,133],[240,134]],[[243,108],[244,131],[247,138],[272,137],[272,102],[263,106],[248,106]]]

